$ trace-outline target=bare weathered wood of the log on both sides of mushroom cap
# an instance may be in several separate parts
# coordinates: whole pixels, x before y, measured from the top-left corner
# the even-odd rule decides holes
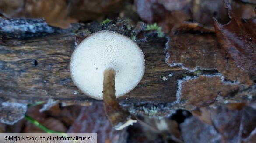
[[[121,101],[175,100],[177,79],[187,71],[169,67],[165,63],[166,42],[165,38],[138,42],[145,54],[145,75],[133,91],[120,98]],[[73,34],[2,40],[0,45],[0,96],[28,100],[93,100],[82,94],[70,77]],[[170,73],[178,73],[179,76],[170,78]],[[163,80],[163,77],[167,77],[167,80]]]

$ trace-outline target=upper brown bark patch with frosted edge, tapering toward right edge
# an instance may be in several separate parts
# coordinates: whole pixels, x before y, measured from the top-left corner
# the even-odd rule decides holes
[[[165,62],[170,67],[181,66],[191,72],[197,69],[216,70],[226,80],[239,81],[250,86],[254,84],[250,74],[235,64],[211,34],[172,35],[165,47]]]

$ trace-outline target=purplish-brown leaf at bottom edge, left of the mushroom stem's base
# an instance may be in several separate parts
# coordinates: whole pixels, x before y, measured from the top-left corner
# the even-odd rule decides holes
[[[105,115],[103,102],[82,107],[79,116],[67,133],[98,133],[99,143],[124,143],[126,130],[115,130]]]

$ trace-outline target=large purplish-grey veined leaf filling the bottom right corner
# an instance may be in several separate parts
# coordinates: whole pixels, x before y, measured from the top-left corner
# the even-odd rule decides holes
[[[256,102],[203,107],[181,124],[185,142],[254,143]],[[198,112],[200,111],[200,112]],[[253,141],[254,140],[254,141]]]

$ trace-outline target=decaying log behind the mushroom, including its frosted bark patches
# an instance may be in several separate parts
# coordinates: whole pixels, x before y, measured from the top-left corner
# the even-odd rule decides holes
[[[196,106],[199,104],[193,102],[192,97],[195,96],[196,102],[208,106],[215,101],[219,102],[217,98],[238,95],[241,86],[232,79],[239,79],[244,75],[246,75],[246,81],[243,83],[247,86],[242,87],[248,90],[248,94],[253,90],[251,86],[254,83],[249,79],[249,75],[239,73],[237,77],[230,78],[218,69],[218,66],[224,63],[222,66],[232,71],[227,66],[234,63],[225,61],[226,57],[223,55],[225,52],[219,47],[214,34],[170,35],[168,40],[168,38],[157,37],[154,32],[145,32],[144,27],[145,24],[138,23],[131,29],[129,22],[117,20],[105,25],[90,23],[80,29],[80,32],[84,33],[77,32],[76,35],[66,32],[48,37],[1,40],[0,96],[26,100],[51,98],[60,101],[93,101],[94,99],[85,96],[72,82],[69,63],[75,41],[79,43],[88,34],[99,30],[112,30],[126,36],[136,36],[136,43],[145,55],[143,79],[134,90],[118,99],[121,103],[174,103],[176,101],[183,105]],[[77,35],[80,36],[77,37]],[[200,78],[199,75],[201,75]],[[197,78],[203,86],[191,84]],[[232,81],[224,83],[225,79]],[[214,84],[207,82],[211,80],[214,80]],[[242,80],[239,81],[242,83]],[[217,88],[224,84],[235,84],[235,88],[233,90]],[[196,89],[200,89],[197,86],[210,89],[210,86],[214,86],[217,91],[196,92]],[[193,87],[195,92],[183,91],[190,87]],[[223,92],[225,94],[222,94]],[[239,94],[239,99],[236,101],[245,99],[246,94],[241,96]],[[209,95],[211,98],[204,98]],[[224,103],[224,100],[221,100],[221,103]]]

